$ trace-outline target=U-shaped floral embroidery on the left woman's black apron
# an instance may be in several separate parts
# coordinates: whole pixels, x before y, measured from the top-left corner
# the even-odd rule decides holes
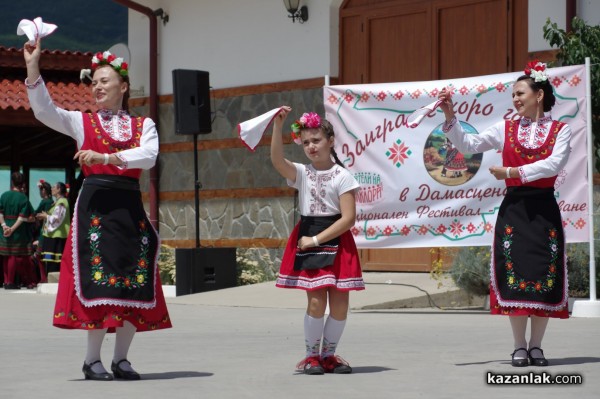
[[[102,254],[100,253],[100,239],[102,237],[101,218],[92,215],[88,239],[90,250],[91,279],[97,285],[103,285],[114,288],[141,288],[148,282],[148,251],[150,249],[150,233],[145,221],[139,222],[140,233],[140,253],[137,260],[135,272],[128,276],[118,276],[115,273],[107,273],[102,264]]]

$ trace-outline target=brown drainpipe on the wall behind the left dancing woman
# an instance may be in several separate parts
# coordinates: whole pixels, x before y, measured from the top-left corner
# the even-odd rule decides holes
[[[156,123],[158,129],[158,23],[156,21],[157,15],[152,9],[138,4],[130,0],[113,0],[115,3],[121,4],[127,8],[142,13],[150,20],[150,95],[149,95],[149,108],[150,118]],[[158,231],[158,158],[156,159],[156,165],[149,171],[150,174],[150,190],[149,190],[149,201],[150,201],[150,223]]]

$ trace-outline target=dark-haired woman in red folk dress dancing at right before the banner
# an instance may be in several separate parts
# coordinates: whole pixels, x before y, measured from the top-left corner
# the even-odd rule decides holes
[[[548,320],[569,317],[565,238],[554,183],[569,158],[571,140],[570,127],[545,114],[555,103],[546,65],[530,62],[513,85],[520,118],[503,120],[477,135],[462,131],[447,90],[439,98],[446,116],[443,130],[460,151],[502,151],[503,166],[490,168],[507,186],[492,247],[491,313],[509,316],[513,366],[546,366],[541,344]]]

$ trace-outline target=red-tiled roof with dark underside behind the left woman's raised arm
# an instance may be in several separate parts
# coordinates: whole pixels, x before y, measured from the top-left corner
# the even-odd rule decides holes
[[[67,110],[95,108],[79,73],[90,67],[92,53],[43,50],[40,70],[50,96]],[[24,80],[23,49],[0,46],[0,165],[65,168],[73,165],[75,142],[35,119]]]

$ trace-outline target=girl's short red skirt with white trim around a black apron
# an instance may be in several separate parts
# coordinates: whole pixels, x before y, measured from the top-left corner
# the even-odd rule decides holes
[[[294,270],[299,229],[300,223],[294,227],[288,240],[277,277],[277,287],[306,291],[316,291],[328,287],[333,287],[338,291],[365,289],[358,250],[352,233],[349,231],[339,237],[338,252],[332,265],[321,269]]]

